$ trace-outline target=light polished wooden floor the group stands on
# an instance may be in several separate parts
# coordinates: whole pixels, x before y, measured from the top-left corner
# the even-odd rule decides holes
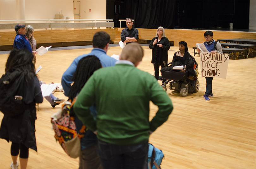
[[[151,50],[143,46],[145,55],[138,66],[154,74]],[[168,51],[172,61],[178,47]],[[91,49],[48,51],[36,58],[36,68],[42,66],[39,79],[46,83],[60,83],[63,72],[78,55]],[[191,55],[193,50],[189,48]],[[120,47],[110,47],[108,55],[119,54]],[[0,74],[8,55],[0,55]],[[198,64],[199,56],[195,56]],[[200,89],[181,97],[179,92],[167,89],[174,110],[169,119],[152,135],[149,142],[162,149],[165,159],[162,169],[255,169],[256,168],[256,58],[229,60],[227,79],[213,79],[210,102],[204,101],[205,78],[198,78]],[[159,83],[161,83],[159,81]],[[169,85],[167,85],[167,88]],[[66,99],[61,92],[55,96]],[[52,108],[44,100],[37,112],[36,140],[38,153],[29,150],[28,169],[78,168],[78,159],[66,155],[56,143],[51,130],[50,116],[61,106]],[[150,106],[150,119],[157,107]],[[0,119],[3,114],[0,113]],[[10,145],[0,139],[0,168],[10,168]],[[18,160],[19,162],[19,160]],[[18,167],[20,168],[20,166]]]

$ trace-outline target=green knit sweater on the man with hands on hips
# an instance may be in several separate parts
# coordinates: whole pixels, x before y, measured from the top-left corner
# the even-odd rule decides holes
[[[149,101],[159,107],[149,122]],[[97,118],[90,114],[96,103]],[[172,102],[153,75],[129,64],[116,64],[94,72],[73,106],[77,117],[98,139],[127,145],[149,139],[149,131],[162,125],[173,110]]]

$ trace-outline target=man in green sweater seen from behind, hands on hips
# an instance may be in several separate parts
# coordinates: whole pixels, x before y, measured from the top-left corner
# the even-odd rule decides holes
[[[143,168],[149,135],[173,110],[171,99],[149,73],[137,69],[143,49],[127,44],[120,61],[104,67],[88,79],[73,106],[84,125],[97,134],[103,168]],[[149,121],[149,102],[158,106]],[[90,114],[96,103],[97,118]]]

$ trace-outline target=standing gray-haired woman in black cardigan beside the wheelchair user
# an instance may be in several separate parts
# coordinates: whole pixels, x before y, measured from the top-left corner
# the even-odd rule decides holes
[[[156,31],[155,38],[151,40],[149,49],[152,49],[152,60],[154,64],[155,78],[159,78],[159,65],[165,67],[163,61],[168,62],[168,50],[170,49],[170,42],[166,38],[164,28],[159,26]]]

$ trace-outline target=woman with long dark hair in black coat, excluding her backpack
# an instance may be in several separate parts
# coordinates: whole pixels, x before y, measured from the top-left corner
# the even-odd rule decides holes
[[[6,71],[11,72],[20,69],[24,73],[24,112],[9,117],[4,115],[0,128],[0,138],[11,141],[11,168],[17,168],[17,158],[20,154],[21,168],[27,167],[28,149],[37,151],[35,140],[35,103],[43,102],[43,96],[39,80],[35,75],[33,54],[27,49],[11,51],[6,63]],[[19,86],[17,86],[19,87]]]

